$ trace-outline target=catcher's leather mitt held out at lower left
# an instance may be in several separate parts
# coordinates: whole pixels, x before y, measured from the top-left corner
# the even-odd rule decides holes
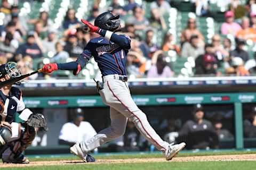
[[[43,130],[47,131],[47,122],[44,115],[40,113],[33,113],[28,117],[27,124],[34,128],[43,128]]]

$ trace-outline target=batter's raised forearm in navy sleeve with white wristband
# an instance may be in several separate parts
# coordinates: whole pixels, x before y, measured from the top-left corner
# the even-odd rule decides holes
[[[130,40],[128,38],[125,38],[123,36],[117,35],[114,32],[99,29],[99,35],[102,37],[105,37],[106,39],[114,42],[115,44],[118,44],[120,47],[123,47],[125,49],[130,49]]]

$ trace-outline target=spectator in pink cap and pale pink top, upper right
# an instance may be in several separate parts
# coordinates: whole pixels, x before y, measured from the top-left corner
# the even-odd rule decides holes
[[[234,22],[234,12],[227,11],[225,13],[226,22],[222,23],[220,31],[222,35],[231,34],[236,36],[236,33],[241,30],[241,26]]]

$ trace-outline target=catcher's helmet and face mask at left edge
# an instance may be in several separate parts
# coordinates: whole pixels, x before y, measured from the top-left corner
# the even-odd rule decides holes
[[[9,75],[10,78],[17,78],[22,75],[22,72],[17,68],[17,63],[7,62],[6,64],[0,65],[0,79],[5,78],[6,74]],[[20,86],[21,81],[15,82],[14,84]]]

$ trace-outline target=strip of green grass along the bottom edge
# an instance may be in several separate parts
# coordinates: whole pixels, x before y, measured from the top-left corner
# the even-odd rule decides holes
[[[38,166],[38,167],[18,167],[1,168],[1,170],[79,170],[79,169],[104,169],[104,170],[133,170],[133,169],[161,169],[161,170],[247,170],[254,169],[256,163],[253,161],[244,162],[166,162],[166,163],[132,163],[132,164],[76,164],[65,166]]]

